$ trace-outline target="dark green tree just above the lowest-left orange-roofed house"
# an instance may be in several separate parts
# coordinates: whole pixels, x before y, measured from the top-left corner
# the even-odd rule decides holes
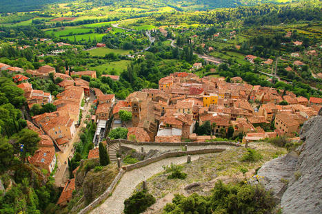
[[[25,162],[28,155],[34,155],[34,152],[38,149],[38,142],[40,140],[38,133],[30,129],[22,129],[19,132],[19,138],[16,144],[18,147],[23,145],[23,149],[21,151],[21,159],[23,162]]]

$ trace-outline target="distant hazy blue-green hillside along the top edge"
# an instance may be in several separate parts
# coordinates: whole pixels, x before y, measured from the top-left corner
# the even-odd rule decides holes
[[[50,3],[82,1],[94,6],[112,4],[135,6],[151,3],[154,6],[171,6],[177,10],[208,10],[214,8],[234,8],[237,6],[254,6],[259,3],[288,3],[292,0],[0,0],[0,13],[41,10]],[[300,1],[300,0],[293,0]]]

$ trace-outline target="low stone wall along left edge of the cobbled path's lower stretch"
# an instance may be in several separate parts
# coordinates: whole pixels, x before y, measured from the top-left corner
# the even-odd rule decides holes
[[[113,192],[115,186],[117,186],[117,183],[122,178],[124,173],[125,171],[121,169],[117,174],[117,177],[115,177],[112,181],[112,184],[110,184],[110,186],[108,187],[108,189],[106,189],[106,191],[103,194],[99,195],[99,197],[97,197],[97,199],[95,199],[92,203],[88,204],[88,206],[79,211],[79,214],[85,214],[92,211],[93,208],[95,208],[97,205],[101,204],[101,202],[106,200],[106,198],[108,198],[108,196]]]

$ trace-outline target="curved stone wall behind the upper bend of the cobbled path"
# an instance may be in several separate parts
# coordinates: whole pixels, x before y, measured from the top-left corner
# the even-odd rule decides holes
[[[215,152],[221,152],[221,151],[225,151],[225,149],[199,149],[199,150],[193,150],[193,151],[170,151],[167,153],[163,153],[157,157],[148,158],[147,160],[143,160],[143,161],[137,162],[135,164],[123,166],[122,169],[124,171],[130,171],[132,169],[144,167],[148,164],[152,164],[153,162],[157,162],[157,161],[165,159],[165,158],[187,156],[187,155],[197,155],[197,154],[204,154],[204,153],[215,153]]]

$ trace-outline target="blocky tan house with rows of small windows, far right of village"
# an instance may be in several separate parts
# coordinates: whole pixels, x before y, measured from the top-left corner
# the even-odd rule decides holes
[[[275,117],[275,128],[279,135],[294,137],[299,131],[299,122],[294,120],[291,114],[277,114]]]

